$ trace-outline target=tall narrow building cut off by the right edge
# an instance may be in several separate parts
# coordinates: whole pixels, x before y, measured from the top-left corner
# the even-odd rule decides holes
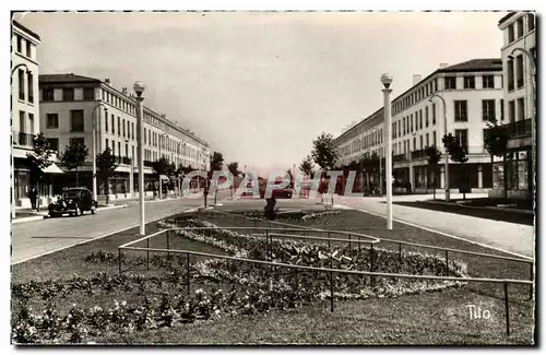
[[[536,29],[535,15],[511,12],[500,19],[501,58],[505,78],[505,110],[508,119],[502,129],[508,133],[507,162],[494,164],[494,190],[490,197],[531,199],[533,191],[532,118],[536,117]],[[531,58],[530,58],[531,57]],[[505,171],[506,169],[506,171]],[[506,173],[506,174],[505,174]]]

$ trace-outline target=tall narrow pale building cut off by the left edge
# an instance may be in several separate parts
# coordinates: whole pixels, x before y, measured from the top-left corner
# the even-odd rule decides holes
[[[11,128],[12,128],[12,198],[16,209],[31,208],[31,168],[27,154],[34,135],[39,133],[38,69],[36,58],[40,37],[17,21],[12,21],[11,36]],[[62,173],[55,164],[45,169],[46,180],[38,184],[40,204],[51,196],[50,174]]]

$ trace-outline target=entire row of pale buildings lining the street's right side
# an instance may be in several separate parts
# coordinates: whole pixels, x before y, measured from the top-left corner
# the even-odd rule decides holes
[[[472,191],[492,190],[499,196],[505,184],[509,196],[529,198],[532,191],[531,103],[533,85],[529,83],[529,59],[515,47],[535,50],[534,15],[511,13],[499,22],[505,31],[505,44],[499,59],[473,59],[454,66],[441,64],[422,79],[414,75],[413,86],[392,99],[393,177],[413,191],[444,189],[444,168],[439,179],[427,171],[426,146],[436,145],[443,152],[446,125],[459,143],[466,147],[467,179],[462,179],[460,164],[450,161],[450,188],[470,187]],[[435,98],[431,99],[431,96]],[[442,100],[446,103],[446,122]],[[491,162],[484,145],[487,122],[496,120],[509,132],[508,163],[496,157]],[[358,162],[366,153],[384,158],[383,108],[344,131],[335,139],[337,165]],[[443,162],[443,158],[442,158]],[[384,177],[383,177],[384,179]],[[377,181],[376,181],[377,184]]]

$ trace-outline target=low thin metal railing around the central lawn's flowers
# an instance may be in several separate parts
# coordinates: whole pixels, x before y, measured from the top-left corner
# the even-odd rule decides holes
[[[244,228],[244,227],[232,227],[232,228]],[[334,311],[334,283],[333,283],[333,274],[339,273],[339,274],[352,274],[352,275],[360,275],[360,276],[370,276],[370,277],[393,277],[393,279],[413,279],[413,280],[437,280],[437,281],[456,281],[456,282],[475,282],[475,283],[492,283],[492,284],[502,284],[503,285],[503,299],[505,299],[505,316],[506,316],[506,329],[507,329],[507,335],[510,335],[510,308],[509,308],[509,294],[508,294],[508,285],[509,284],[522,284],[522,285],[532,285],[532,281],[526,281],[526,280],[510,280],[510,279],[486,279],[486,277],[455,277],[455,276],[435,276],[435,275],[416,275],[416,274],[403,274],[403,273],[387,273],[387,272],[373,272],[373,271],[360,271],[360,270],[344,270],[344,269],[333,269],[332,267],[332,261],[333,261],[333,256],[330,255],[330,268],[319,268],[319,267],[308,267],[308,265],[296,265],[296,264],[287,264],[287,263],[281,263],[281,262],[273,262],[273,261],[265,261],[265,260],[256,260],[256,259],[247,259],[247,258],[237,258],[237,257],[230,257],[230,256],[222,256],[222,255],[215,255],[215,253],[209,253],[209,252],[201,252],[201,251],[192,251],[192,250],[186,250],[186,249],[171,249],[170,248],[170,240],[169,240],[169,233],[175,230],[192,230],[192,229],[218,229],[217,227],[190,227],[190,228],[168,228],[168,229],[163,229],[157,233],[154,233],[150,236],[144,236],[142,238],[139,238],[133,241],[126,242],[121,246],[118,247],[118,268],[119,268],[119,274],[123,272],[122,270],[122,250],[134,250],[134,251],[145,251],[147,257],[146,257],[146,264],[147,264],[147,270],[150,270],[150,252],[165,252],[167,255],[170,253],[181,253],[186,255],[186,267],[187,267],[187,292],[188,294],[190,293],[190,285],[191,285],[191,279],[190,279],[190,256],[200,256],[200,257],[207,257],[207,258],[215,258],[215,259],[225,259],[225,260],[234,260],[234,261],[239,261],[239,262],[248,262],[248,263],[253,263],[253,264],[263,264],[263,265],[271,265],[272,268],[292,268],[292,269],[298,269],[298,270],[308,270],[308,271],[316,271],[316,272],[325,272],[330,273],[330,308],[331,311]],[[222,228],[222,229],[230,229],[230,228]],[[246,228],[246,229],[252,229]],[[150,239],[161,236],[165,234],[167,238],[167,249],[163,248],[150,248]],[[134,244],[141,242],[146,240],[146,247],[133,247]],[[345,240],[348,241],[348,240]],[[370,242],[370,241],[363,241],[363,242]],[[373,244],[371,244],[372,246]]]

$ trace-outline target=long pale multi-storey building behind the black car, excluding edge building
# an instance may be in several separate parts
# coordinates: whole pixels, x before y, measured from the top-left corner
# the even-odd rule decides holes
[[[118,90],[111,82],[69,74],[39,76],[40,125],[51,146],[62,153],[70,140],[81,140],[90,150],[85,165],[79,168],[79,185],[92,187],[93,125],[97,149],[110,147],[118,157],[116,175],[110,178],[109,193],[116,198],[134,197],[138,191],[136,100],[127,88]],[[150,107],[144,117],[144,182],[152,191],[156,181],[152,163],[165,156],[178,166],[207,169],[209,144],[193,132],[179,127]],[[63,167],[63,170],[67,169]],[[74,171],[67,171],[56,189],[74,184]],[[131,174],[132,173],[132,174]],[[97,182],[97,193],[105,194]],[[151,192],[150,192],[151,193]]]

